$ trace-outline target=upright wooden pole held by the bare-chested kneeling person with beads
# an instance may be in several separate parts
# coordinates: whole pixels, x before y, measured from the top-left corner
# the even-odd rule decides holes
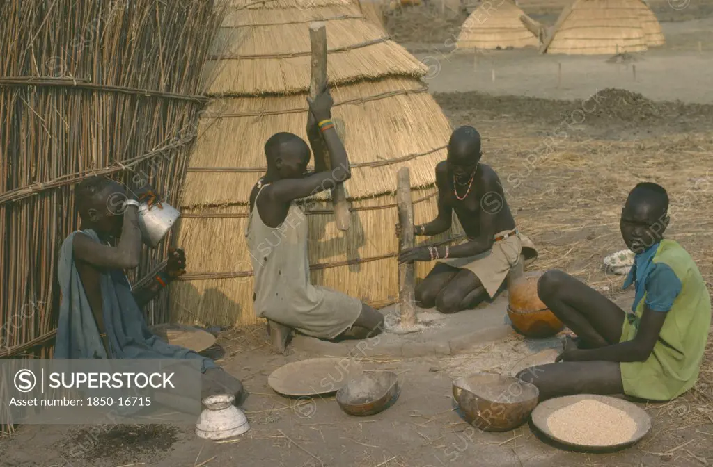
[[[414,247],[414,201],[411,199],[411,174],[409,167],[399,169],[396,184],[396,206],[399,209],[399,251]],[[416,325],[416,266],[414,263],[399,265],[399,302],[401,303],[401,326]]]

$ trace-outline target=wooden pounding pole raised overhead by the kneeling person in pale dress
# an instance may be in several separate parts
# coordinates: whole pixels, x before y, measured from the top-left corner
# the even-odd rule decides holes
[[[322,21],[309,23],[309,41],[312,43],[312,78],[309,80],[309,98],[314,99],[319,91],[327,87],[327,27]],[[309,110],[308,110],[309,112]],[[319,162],[327,170],[332,170],[329,152],[324,147],[322,154],[314,154],[314,167],[320,167]],[[337,229],[349,230],[349,202],[344,193],[344,185],[339,183],[332,189],[332,205],[334,217],[337,219]]]

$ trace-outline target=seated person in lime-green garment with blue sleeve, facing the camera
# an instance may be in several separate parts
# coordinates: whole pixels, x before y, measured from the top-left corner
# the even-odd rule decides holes
[[[573,330],[559,363],[526,369],[520,379],[540,398],[568,394],[627,394],[668,401],[695,384],[711,324],[711,300],[696,263],[678,243],[663,238],[668,194],[640,183],[622,209],[620,229],[635,264],[630,312],[560,271],[539,280],[538,295]]]

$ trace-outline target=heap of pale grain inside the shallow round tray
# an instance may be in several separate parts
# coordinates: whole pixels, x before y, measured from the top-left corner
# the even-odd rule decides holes
[[[625,411],[587,399],[555,411],[547,427],[555,438],[568,443],[613,446],[630,441],[637,424]]]

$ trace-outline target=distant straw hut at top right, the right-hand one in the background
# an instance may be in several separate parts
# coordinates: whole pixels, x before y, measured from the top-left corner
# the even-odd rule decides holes
[[[548,53],[583,55],[647,49],[637,0],[576,0],[553,28]]]

